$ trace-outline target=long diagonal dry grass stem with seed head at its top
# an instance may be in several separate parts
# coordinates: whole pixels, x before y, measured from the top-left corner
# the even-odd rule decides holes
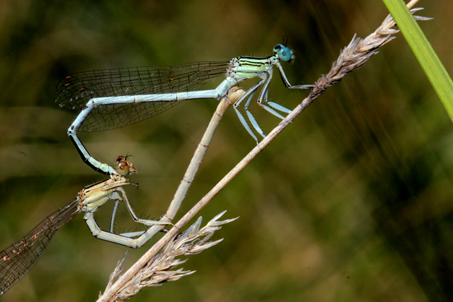
[[[418,0],[412,0],[409,4],[407,4],[408,8],[412,8],[414,4],[416,4]],[[415,13],[415,11],[419,11],[423,8],[415,8],[411,10],[411,13]],[[414,16],[415,20],[418,21],[425,21],[430,20],[430,18]],[[125,272],[125,274],[120,277],[120,279],[113,284],[108,290],[105,291],[103,296],[98,301],[115,301],[115,297],[117,297],[117,292],[122,289],[125,284],[128,284],[130,280],[134,279],[137,274],[141,271],[143,267],[145,267],[149,261],[156,255],[161,248],[166,245],[166,243],[174,238],[178,231],[185,226],[190,219],[192,219],[198,211],[200,211],[206,204],[208,204],[215,195],[217,195],[227,183],[229,183],[239,172],[250,163],[250,161],[255,158],[258,153],[263,151],[263,149],[270,144],[270,141],[273,141],[275,137],[277,137],[280,132],[287,127],[290,122],[292,122],[298,115],[300,115],[308,106],[316,100],[326,89],[333,84],[338,83],[341,81],[344,76],[346,76],[351,71],[360,68],[367,62],[367,60],[372,57],[372,55],[377,54],[377,50],[382,45],[390,42],[394,39],[391,35],[398,33],[399,30],[392,29],[396,25],[394,19],[389,15],[386,17],[384,22],[382,23],[377,30],[374,31],[371,35],[366,37],[365,39],[357,38],[354,36],[350,44],[345,47],[345,49],[340,53],[340,56],[333,63],[331,71],[328,74],[321,76],[321,78],[316,81],[315,87],[312,88],[309,95],[302,100],[302,103],[297,105],[294,110],[292,110],[289,115],[287,115],[286,120],[280,122],[280,124],[273,129],[268,136],[263,139],[263,141],[258,144],[250,153],[247,154],[222,180],[220,180],[217,185],[215,185],[210,192],[208,192],[205,197],[203,197],[200,202],[195,204],[195,206],[188,211],[187,214],[183,216],[178,223],[176,223],[175,227],[171,228],[166,235],[161,238],[153,247],[151,247],[130,269]]]

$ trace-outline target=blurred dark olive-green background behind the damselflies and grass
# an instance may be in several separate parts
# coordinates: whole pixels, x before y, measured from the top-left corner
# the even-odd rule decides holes
[[[421,1],[420,23],[453,69],[453,2]],[[268,56],[289,38],[291,83],[326,74],[357,33],[387,15],[382,1],[0,2],[0,248],[102,180],[67,137],[74,112],[55,105],[59,79],[79,71]],[[452,301],[452,122],[403,40],[328,89],[205,209],[238,221],[191,256],[190,277],[132,301]],[[249,83],[250,85],[250,83]],[[304,92],[306,93],[306,92]],[[294,108],[275,76],[270,97]],[[103,162],[130,153],[137,213],[164,214],[216,100],[182,105],[130,127],[80,134]],[[253,105],[269,132],[279,122]],[[226,113],[178,217],[254,146]],[[96,213],[108,221],[111,208]],[[122,207],[125,212],[125,207]],[[134,230],[127,213],[118,227]],[[158,236],[160,237],[160,236]],[[154,239],[153,241],[155,241]],[[2,301],[94,301],[117,260],[142,250],[96,240],[82,215]]]

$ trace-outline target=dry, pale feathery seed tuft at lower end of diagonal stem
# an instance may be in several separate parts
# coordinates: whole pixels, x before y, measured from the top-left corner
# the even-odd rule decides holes
[[[122,287],[120,291],[115,294],[113,301],[125,301],[139,291],[141,291],[145,286],[161,286],[164,282],[176,281],[181,277],[188,276],[193,274],[195,271],[183,271],[183,269],[171,270],[178,265],[183,264],[186,260],[175,259],[178,256],[183,255],[195,255],[208,248],[211,248],[214,245],[217,245],[223,239],[216,241],[207,241],[209,240],[214,232],[219,230],[222,224],[229,223],[235,219],[227,219],[224,221],[217,221],[226,211],[223,211],[219,215],[215,216],[207,225],[200,229],[202,223],[202,217],[197,219],[187,231],[178,234],[170,240],[164,248],[157,254],[152,257],[151,260],[139,270],[137,274],[130,279],[125,286]],[[124,260],[124,259],[123,259]],[[122,260],[117,263],[115,271],[110,275],[110,280],[106,291],[112,286],[113,279],[121,272],[120,266],[122,265]]]

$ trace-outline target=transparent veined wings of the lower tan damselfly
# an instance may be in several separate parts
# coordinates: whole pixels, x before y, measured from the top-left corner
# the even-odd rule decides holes
[[[57,230],[79,214],[79,202],[79,199],[74,199],[67,206],[58,209],[21,240],[0,252],[0,296],[38,262]]]

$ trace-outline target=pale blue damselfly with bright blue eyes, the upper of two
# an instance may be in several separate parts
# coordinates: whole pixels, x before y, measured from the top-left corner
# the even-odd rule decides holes
[[[246,93],[234,103],[234,110],[247,132],[258,143],[253,129],[265,137],[255,117],[248,111],[248,105],[260,86],[258,104],[276,117],[285,120],[279,113],[291,110],[268,101],[273,66],[280,71],[287,88],[309,89],[313,85],[292,86],[283,71],[280,61],[292,62],[294,54],[282,44],[275,45],[270,57],[236,57],[229,62],[197,62],[178,66],[147,66],[124,69],[105,69],[81,72],[67,76],[57,86],[56,103],[62,108],[79,110],[68,129],[71,141],[81,158],[91,168],[104,174],[115,174],[114,168],[90,156],[81,143],[77,132],[96,132],[125,127],[172,108],[183,100],[222,98],[229,89],[246,79],[259,78]],[[224,78],[212,90],[197,91],[209,81]],[[243,102],[246,117],[238,110]]]

